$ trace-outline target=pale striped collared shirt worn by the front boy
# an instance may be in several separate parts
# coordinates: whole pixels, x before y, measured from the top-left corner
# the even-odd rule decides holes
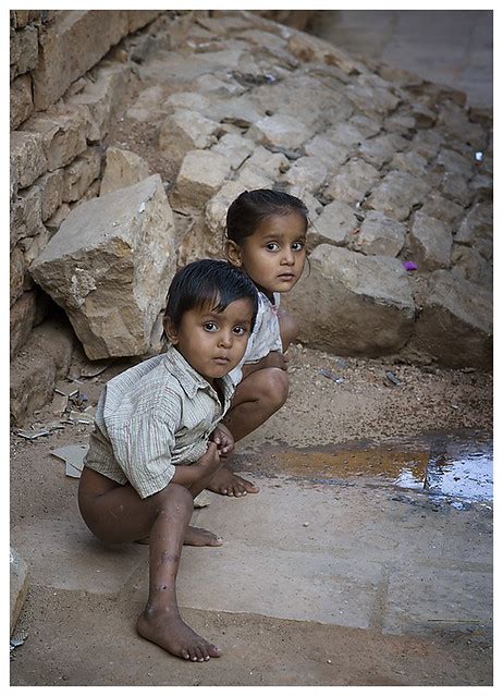
[[[196,462],[229,410],[234,386],[221,380],[224,404],[179,351],[151,357],[111,379],[98,401],[85,465],[140,498],[168,486],[176,464]]]

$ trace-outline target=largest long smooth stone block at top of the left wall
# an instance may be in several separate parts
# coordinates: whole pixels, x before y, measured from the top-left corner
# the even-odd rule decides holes
[[[39,36],[34,78],[37,109],[50,107],[128,32],[124,10],[63,10]]]

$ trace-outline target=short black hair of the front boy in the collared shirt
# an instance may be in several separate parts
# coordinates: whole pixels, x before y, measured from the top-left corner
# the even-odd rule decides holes
[[[228,261],[205,258],[176,271],[168,291],[164,318],[169,317],[177,329],[185,312],[204,305],[223,312],[231,302],[245,298],[249,298],[254,307],[253,330],[258,309],[254,283]]]

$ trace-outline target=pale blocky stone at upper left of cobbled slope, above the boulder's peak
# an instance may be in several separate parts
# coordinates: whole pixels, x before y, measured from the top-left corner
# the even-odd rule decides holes
[[[179,109],[169,115],[159,130],[159,150],[180,164],[191,150],[204,150],[217,143],[220,124],[206,117]]]

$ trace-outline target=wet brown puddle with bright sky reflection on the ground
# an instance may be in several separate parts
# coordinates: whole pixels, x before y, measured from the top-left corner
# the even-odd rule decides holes
[[[238,455],[236,467],[312,483],[394,486],[428,493],[437,501],[492,504],[493,444],[484,432],[427,434],[384,441],[333,445],[263,445]]]

